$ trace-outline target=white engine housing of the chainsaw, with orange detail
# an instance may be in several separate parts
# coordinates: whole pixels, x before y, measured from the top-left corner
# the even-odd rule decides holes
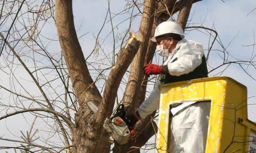
[[[105,120],[103,127],[112,135],[118,144],[123,145],[127,143],[130,137],[130,131],[124,120],[120,117],[113,118],[111,122],[109,120],[108,118]]]

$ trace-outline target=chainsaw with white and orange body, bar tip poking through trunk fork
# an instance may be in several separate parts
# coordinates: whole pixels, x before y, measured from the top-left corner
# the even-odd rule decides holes
[[[87,105],[92,112],[97,112],[98,107],[92,102],[87,102]],[[124,104],[120,104],[112,116],[106,118],[103,127],[118,144],[124,145],[134,135],[134,127],[129,126],[131,122],[131,118],[125,117]]]

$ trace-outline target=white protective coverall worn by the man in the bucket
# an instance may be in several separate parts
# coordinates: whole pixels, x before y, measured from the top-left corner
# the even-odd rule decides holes
[[[204,50],[196,41],[182,39],[169,54],[163,65],[168,65],[170,75],[188,74],[202,63]],[[173,63],[174,59],[177,60]],[[140,118],[152,114],[159,108],[160,80],[156,81],[153,91],[138,108]],[[172,108],[171,153],[204,153],[210,114],[210,102],[185,102]]]

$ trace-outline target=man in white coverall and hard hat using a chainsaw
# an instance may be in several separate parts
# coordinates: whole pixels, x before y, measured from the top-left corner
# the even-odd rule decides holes
[[[159,84],[208,77],[206,58],[200,43],[184,39],[182,28],[175,22],[162,22],[154,37],[156,52],[167,57],[163,65],[147,64],[146,75],[160,75],[154,90],[130,117],[134,124],[159,108]],[[171,153],[204,153],[210,102],[185,102],[172,105]]]

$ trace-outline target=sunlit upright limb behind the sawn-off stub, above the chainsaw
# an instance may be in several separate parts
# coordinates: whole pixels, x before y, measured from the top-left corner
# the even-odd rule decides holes
[[[144,65],[144,59],[154,22],[154,8],[156,8],[155,0],[145,0],[142,20],[140,22],[140,30],[138,32],[138,35],[141,37],[143,43],[140,45],[138,53],[135,55],[131,63],[130,76],[124,92],[123,104],[127,108],[126,112],[135,110],[136,105],[134,105],[134,102],[138,100],[138,96],[140,95],[140,88],[143,78],[142,67]]]

